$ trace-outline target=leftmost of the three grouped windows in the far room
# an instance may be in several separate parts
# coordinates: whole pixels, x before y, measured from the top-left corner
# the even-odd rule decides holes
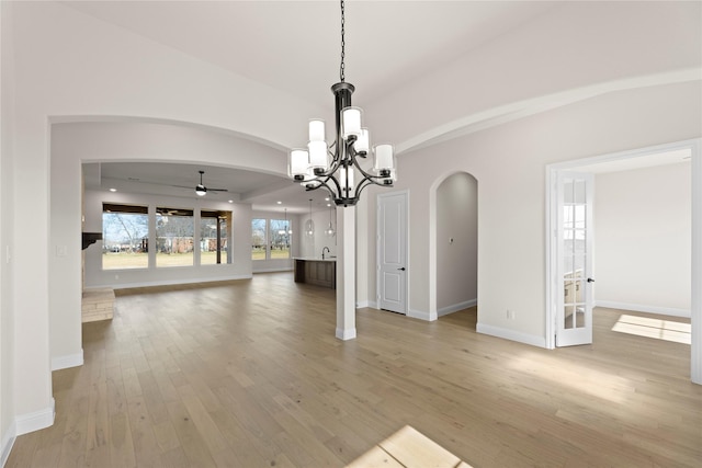
[[[102,269],[146,269],[148,256],[148,207],[102,205]]]

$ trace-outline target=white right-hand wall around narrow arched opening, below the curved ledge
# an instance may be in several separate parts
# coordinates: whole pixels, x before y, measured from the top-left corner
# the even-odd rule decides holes
[[[411,189],[411,265],[429,265],[435,248],[429,243],[432,184],[445,178],[446,168],[473,174],[478,180],[478,330],[545,345],[546,164],[700,137],[701,91],[692,81],[609,93],[401,155],[396,189]],[[375,202],[370,206],[373,220]],[[374,252],[374,239],[367,239]],[[409,308],[419,316],[435,308],[430,271],[411,270]],[[369,282],[371,297],[374,281]],[[513,320],[507,309],[516,311]]]

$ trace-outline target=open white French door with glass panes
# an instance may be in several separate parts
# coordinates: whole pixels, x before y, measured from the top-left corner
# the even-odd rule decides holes
[[[556,346],[592,343],[592,174],[558,173]]]

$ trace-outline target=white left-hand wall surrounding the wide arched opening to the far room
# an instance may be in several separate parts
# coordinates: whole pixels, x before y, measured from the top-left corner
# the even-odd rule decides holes
[[[68,199],[60,206],[66,209],[79,206],[79,161],[101,158],[99,152],[76,155],[66,160],[55,159],[55,155],[49,157],[50,121],[58,122],[57,116],[64,121],[91,119],[83,116],[155,117],[234,128],[268,141],[287,138],[292,141],[297,138],[292,135],[294,129],[304,127],[305,121],[292,114],[301,110],[306,115],[321,112],[317,105],[95,21],[58,2],[16,2],[12,7],[16,57],[12,176],[14,186],[32,194],[14,201],[14,216],[10,218],[13,236],[21,238],[23,246],[13,249],[12,303],[14,355],[21,356],[18,365],[22,367],[12,374],[16,390],[13,410],[15,419],[22,422],[19,431],[23,431],[53,422],[49,315],[53,323],[64,322],[63,313],[69,315],[66,323],[75,323],[79,310],[80,226],[68,221],[70,228],[64,232],[50,232],[50,190],[65,183]],[[290,135],[281,128],[290,128]],[[100,141],[100,138],[93,140]],[[125,156],[120,153],[122,148],[117,145],[111,152],[107,147],[107,157],[124,160]],[[249,158],[261,156],[267,159],[263,150]],[[139,159],[143,155],[132,157]],[[200,157],[179,153],[177,157],[160,155],[156,159],[192,162]],[[52,164],[65,163],[58,180],[50,181],[49,160]],[[206,162],[230,163],[219,156],[208,157]],[[267,162],[270,162],[268,171],[285,174],[284,157],[279,162],[269,158],[261,164]],[[3,213],[3,219],[8,219],[4,216]],[[60,214],[52,214],[52,218]],[[76,219],[72,216],[69,214],[68,219]],[[53,242],[68,247],[67,256],[60,261],[67,274],[50,276],[49,282],[49,273],[54,271],[49,264],[56,261]],[[48,298],[56,297],[59,290],[70,292],[72,306],[56,309],[49,305]],[[68,347],[77,351],[78,345],[71,343]]]

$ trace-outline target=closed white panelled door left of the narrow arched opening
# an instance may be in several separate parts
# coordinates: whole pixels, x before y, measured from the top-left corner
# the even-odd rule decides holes
[[[407,193],[377,197],[378,308],[407,313]]]

